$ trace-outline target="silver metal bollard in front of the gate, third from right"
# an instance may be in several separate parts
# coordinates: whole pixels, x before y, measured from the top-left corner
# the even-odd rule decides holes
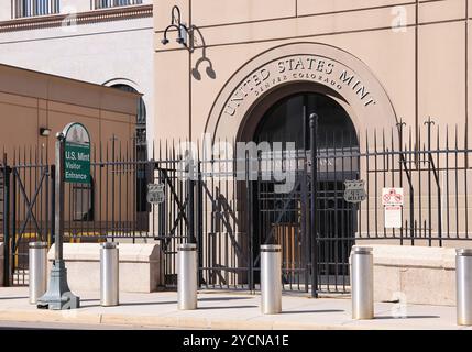
[[[264,315],[282,312],[282,246],[261,245],[261,310]]]

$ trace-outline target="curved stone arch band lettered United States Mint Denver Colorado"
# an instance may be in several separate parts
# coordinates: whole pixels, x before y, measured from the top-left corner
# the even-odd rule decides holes
[[[273,47],[235,72],[213,102],[205,132],[213,140],[241,139],[241,125],[264,98],[307,84],[341,102],[358,131],[397,122],[387,92],[365,63],[338,47],[304,42]]]

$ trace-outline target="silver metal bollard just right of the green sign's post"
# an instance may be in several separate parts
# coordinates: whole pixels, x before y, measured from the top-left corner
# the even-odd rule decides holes
[[[105,242],[100,248],[100,305],[119,305],[119,251],[117,243]]]

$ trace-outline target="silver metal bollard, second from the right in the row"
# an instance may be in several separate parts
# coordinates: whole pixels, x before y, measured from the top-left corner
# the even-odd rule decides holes
[[[352,319],[374,318],[374,257],[372,248],[352,248]]]

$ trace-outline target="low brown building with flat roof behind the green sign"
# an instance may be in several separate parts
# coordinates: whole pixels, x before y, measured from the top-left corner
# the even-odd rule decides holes
[[[53,180],[52,165],[56,163],[56,133],[70,122],[84,124],[90,134],[90,162],[101,162],[101,155],[113,155],[112,146],[118,154],[122,145],[133,145],[140,97],[135,92],[0,65],[0,196],[3,205],[0,237],[3,240],[8,219],[10,226],[7,228],[12,233],[10,240],[14,234],[15,241],[21,243],[17,253],[28,251],[28,242],[35,238],[51,242],[48,207],[53,197],[48,187]],[[112,140],[119,142],[112,144]],[[108,199],[102,201],[101,198],[112,193],[124,193],[134,179],[128,177],[124,180],[122,177],[123,183],[117,186],[103,186],[100,182],[101,169],[103,174],[110,172],[108,167],[91,167],[90,185],[70,184],[66,188],[64,210],[70,228],[77,224],[84,228],[85,222],[98,220],[99,215],[112,211],[124,221],[130,221],[125,215],[134,209],[133,204],[123,201],[109,210]],[[8,204],[13,209],[11,213],[6,212],[7,194],[11,195]],[[20,206],[14,206],[15,201]],[[34,221],[29,221],[32,217],[25,205],[32,205]],[[15,263],[25,265],[28,257],[20,257]]]

